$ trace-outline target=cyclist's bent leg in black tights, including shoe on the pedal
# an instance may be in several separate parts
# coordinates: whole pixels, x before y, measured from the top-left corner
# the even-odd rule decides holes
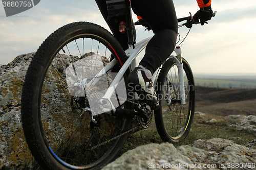
[[[141,68],[134,69],[128,81],[136,92],[143,94],[142,101],[156,110],[159,107],[159,100],[153,88],[151,75],[175,48],[178,32],[176,12],[172,0],[133,0],[132,7],[134,12],[151,26],[155,35],[146,46],[145,55],[140,62]]]

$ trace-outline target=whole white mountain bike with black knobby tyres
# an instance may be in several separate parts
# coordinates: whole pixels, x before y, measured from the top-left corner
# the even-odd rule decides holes
[[[127,76],[151,37],[135,43],[131,13],[127,18],[130,23],[120,22],[130,39],[125,52],[104,28],[74,22],[52,33],[33,57],[23,86],[22,123],[44,169],[100,169],[129,133],[150,126],[153,111],[131,90]],[[191,28],[193,16],[178,21]],[[175,52],[152,76],[160,101],[156,128],[167,142],[187,136],[195,110],[193,73],[179,46]]]

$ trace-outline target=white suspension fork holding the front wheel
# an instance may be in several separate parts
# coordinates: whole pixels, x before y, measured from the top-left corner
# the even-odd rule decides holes
[[[181,103],[181,105],[185,105],[186,104],[186,96],[185,96],[183,63],[182,63],[180,46],[175,47],[174,52],[177,54],[177,56],[172,56],[172,57],[175,59],[176,65],[178,67],[179,86],[180,86],[180,103]]]

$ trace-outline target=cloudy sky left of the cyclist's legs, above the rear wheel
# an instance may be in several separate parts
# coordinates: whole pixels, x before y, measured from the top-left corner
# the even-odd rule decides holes
[[[0,7],[2,14],[4,8]],[[23,13],[1,16],[0,64],[11,62],[19,54],[35,52],[52,32],[75,21],[103,23],[108,28],[94,0],[45,0]]]

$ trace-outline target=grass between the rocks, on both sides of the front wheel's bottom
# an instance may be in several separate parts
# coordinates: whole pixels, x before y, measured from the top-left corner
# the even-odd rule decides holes
[[[209,122],[212,118],[217,121]],[[198,139],[223,138],[233,140],[235,143],[242,145],[256,138],[254,132],[239,131],[229,126],[236,123],[237,121],[230,120],[223,116],[209,114],[203,116],[195,115],[193,125],[187,137],[183,141],[173,144],[175,147],[179,147],[180,145],[192,144]],[[148,129],[136,132],[129,136],[120,155],[143,144],[162,142],[162,139],[157,133],[153,119],[152,125]]]

